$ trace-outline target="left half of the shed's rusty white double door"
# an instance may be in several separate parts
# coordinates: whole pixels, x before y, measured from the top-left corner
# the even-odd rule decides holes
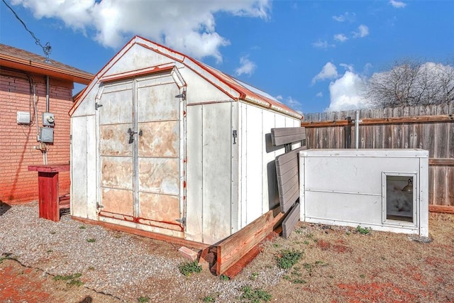
[[[126,82],[104,89],[99,108],[99,160],[102,211],[133,216],[133,84]]]

